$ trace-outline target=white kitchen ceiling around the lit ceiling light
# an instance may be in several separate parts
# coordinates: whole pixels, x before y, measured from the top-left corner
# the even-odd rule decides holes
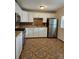
[[[17,0],[17,2],[26,10],[40,10],[40,5],[46,5],[44,11],[56,11],[64,6],[64,0]]]

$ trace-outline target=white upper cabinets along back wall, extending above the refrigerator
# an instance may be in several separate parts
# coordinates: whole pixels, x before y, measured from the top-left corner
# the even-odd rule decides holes
[[[53,18],[53,13],[28,12],[28,22],[33,22],[34,18],[43,18],[43,22],[47,22],[47,18]]]

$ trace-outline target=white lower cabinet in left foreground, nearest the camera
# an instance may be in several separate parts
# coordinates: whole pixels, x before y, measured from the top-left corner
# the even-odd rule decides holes
[[[16,37],[16,59],[19,59],[21,51],[22,51],[22,32]]]

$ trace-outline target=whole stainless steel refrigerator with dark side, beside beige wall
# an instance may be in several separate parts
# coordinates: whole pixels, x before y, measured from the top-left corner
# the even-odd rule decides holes
[[[56,18],[48,18],[47,19],[47,37],[57,37],[57,19]]]

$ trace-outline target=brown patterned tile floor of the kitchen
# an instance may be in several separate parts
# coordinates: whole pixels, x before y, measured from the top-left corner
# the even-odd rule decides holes
[[[64,42],[53,38],[27,39],[20,59],[64,59]]]

